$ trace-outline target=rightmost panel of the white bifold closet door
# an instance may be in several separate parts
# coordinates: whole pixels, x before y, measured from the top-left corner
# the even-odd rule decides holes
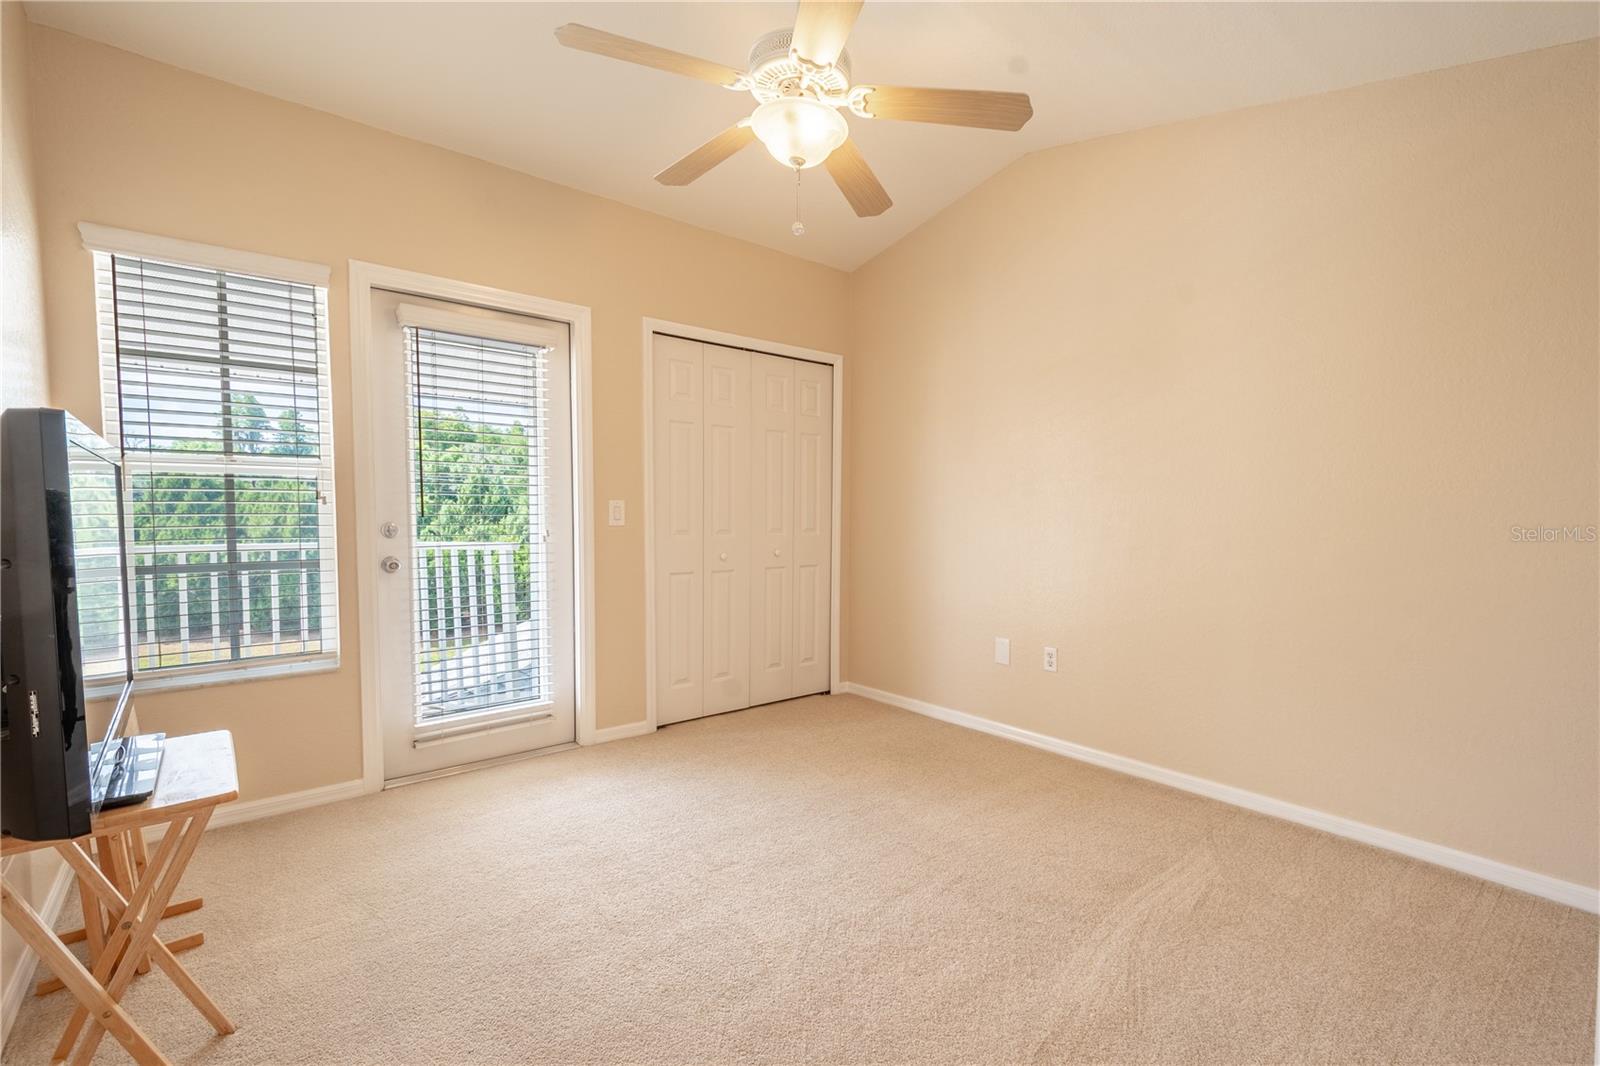
[[[794,363],[794,690],[827,691],[834,554],[834,368]]]

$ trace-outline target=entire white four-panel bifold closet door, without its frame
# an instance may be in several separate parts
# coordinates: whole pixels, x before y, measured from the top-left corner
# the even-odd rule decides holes
[[[829,688],[832,368],[654,335],[656,722]]]

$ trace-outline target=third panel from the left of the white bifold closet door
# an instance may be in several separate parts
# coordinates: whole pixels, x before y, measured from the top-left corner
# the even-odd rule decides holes
[[[750,354],[750,703],[794,695],[795,362]]]

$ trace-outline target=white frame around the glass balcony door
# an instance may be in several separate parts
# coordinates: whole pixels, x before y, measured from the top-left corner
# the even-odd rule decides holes
[[[355,429],[355,599],[362,624],[362,784],[384,787],[382,717],[378,714],[378,455],[373,443],[371,397],[376,384],[371,352],[373,290],[451,299],[493,311],[565,322],[573,359],[573,546],[578,587],[573,595],[578,664],[578,743],[595,743],[595,546],[594,546],[594,363],[589,307],[526,296],[488,285],[350,259],[350,413]]]

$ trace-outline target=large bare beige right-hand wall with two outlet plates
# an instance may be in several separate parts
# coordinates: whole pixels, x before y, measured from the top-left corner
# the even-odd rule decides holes
[[[1038,152],[861,269],[851,680],[1595,885],[1597,547],[1512,527],[1600,522],[1597,91]]]

